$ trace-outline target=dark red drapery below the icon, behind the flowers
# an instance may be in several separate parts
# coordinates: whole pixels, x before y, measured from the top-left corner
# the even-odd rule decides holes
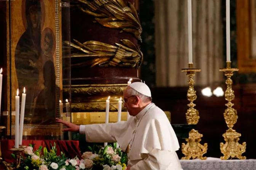
[[[22,140],[22,145],[29,146],[29,144],[34,145],[34,150],[37,150],[40,146],[47,148],[48,151],[51,149],[51,144],[54,146],[56,143],[57,154],[60,155],[61,151],[69,158],[74,158],[75,156],[82,158],[82,154],[79,149],[79,141],[76,140]],[[15,142],[14,140],[2,140],[1,141],[1,153],[2,158],[6,162],[13,162],[14,159],[11,157],[10,149],[13,148]]]

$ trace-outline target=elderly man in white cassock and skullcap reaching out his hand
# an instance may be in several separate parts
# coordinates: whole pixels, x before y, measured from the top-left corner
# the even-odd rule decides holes
[[[63,131],[80,132],[87,142],[117,142],[125,151],[130,144],[127,170],[182,170],[176,154],[179,143],[163,110],[152,103],[149,87],[131,83],[123,93],[128,121],[107,124],[66,125]]]

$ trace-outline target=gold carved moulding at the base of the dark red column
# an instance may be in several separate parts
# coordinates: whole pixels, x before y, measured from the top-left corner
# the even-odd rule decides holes
[[[105,112],[106,99],[110,96],[110,112],[117,112],[118,100],[123,96],[127,84],[72,85],[72,112]],[[70,88],[64,88],[63,94],[69,94]],[[122,108],[126,111],[126,107]]]

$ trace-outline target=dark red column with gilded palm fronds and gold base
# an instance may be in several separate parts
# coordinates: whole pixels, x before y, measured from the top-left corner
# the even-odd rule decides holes
[[[110,121],[117,121],[111,116],[117,113],[128,80],[140,81],[142,53],[138,42],[142,29],[133,5],[138,2],[85,2],[87,5],[81,1],[70,8],[72,121],[104,123],[108,96]],[[68,90],[64,88],[64,95]],[[122,120],[126,120],[125,109]]]

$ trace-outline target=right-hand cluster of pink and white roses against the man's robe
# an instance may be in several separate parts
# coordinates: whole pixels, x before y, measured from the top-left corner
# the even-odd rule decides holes
[[[93,170],[126,170],[127,154],[117,148],[116,143],[114,143],[114,147],[107,145],[102,148],[94,145],[93,148],[90,146],[88,148],[91,151],[83,153],[82,157],[85,161],[93,162]]]

